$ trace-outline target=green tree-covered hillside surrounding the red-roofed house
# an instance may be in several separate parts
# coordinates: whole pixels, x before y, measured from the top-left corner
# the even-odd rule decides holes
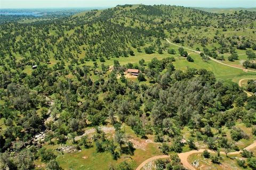
[[[135,169],[161,153],[184,169],[175,153],[254,141],[256,12],[118,5],[20,21],[0,24],[4,169]],[[243,157],[235,168],[256,168]]]

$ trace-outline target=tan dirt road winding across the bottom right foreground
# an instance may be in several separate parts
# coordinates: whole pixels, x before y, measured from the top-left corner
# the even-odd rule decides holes
[[[251,150],[253,148],[256,147],[256,141],[254,141],[251,145],[245,147],[244,149],[246,150]],[[196,168],[194,166],[192,166],[189,162],[188,162],[188,157],[189,155],[191,154],[198,154],[198,153],[202,153],[205,149],[199,149],[199,150],[191,150],[191,151],[188,151],[188,152],[183,152],[183,153],[180,153],[178,154],[179,158],[180,158],[180,161],[182,163],[182,165],[187,168],[187,169],[190,169],[190,170],[196,170]],[[208,149],[207,149],[208,150]],[[209,152],[211,153],[215,153],[215,151],[213,150],[208,150]],[[241,151],[235,151],[235,152],[230,152],[228,155],[236,155],[236,154],[240,154]],[[225,152],[221,151],[220,154],[225,154]],[[154,157],[151,157],[147,160],[145,160],[143,163],[141,163],[137,168],[136,170],[141,170],[141,168],[143,166],[145,166],[146,164],[150,163],[150,162],[153,162],[154,160],[156,159],[161,159],[161,158],[169,158],[170,156],[169,155],[158,155],[158,156],[154,156]]]

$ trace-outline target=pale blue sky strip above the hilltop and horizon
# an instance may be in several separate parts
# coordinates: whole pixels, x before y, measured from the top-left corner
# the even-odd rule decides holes
[[[167,4],[191,7],[256,7],[256,0],[0,0],[0,8],[112,7],[117,4]]]

